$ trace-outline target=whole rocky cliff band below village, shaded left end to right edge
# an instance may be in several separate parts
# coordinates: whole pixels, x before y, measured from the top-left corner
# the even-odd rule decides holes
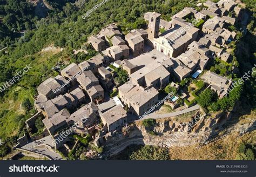
[[[211,115],[200,111],[187,122],[179,122],[173,118],[158,119],[154,126],[147,128],[142,125],[142,121],[137,121],[123,130],[123,133],[105,139],[103,157],[117,154],[132,144],[160,147],[203,146],[230,134],[242,135],[256,129],[256,119],[242,124],[234,122],[234,111],[236,110]]]

